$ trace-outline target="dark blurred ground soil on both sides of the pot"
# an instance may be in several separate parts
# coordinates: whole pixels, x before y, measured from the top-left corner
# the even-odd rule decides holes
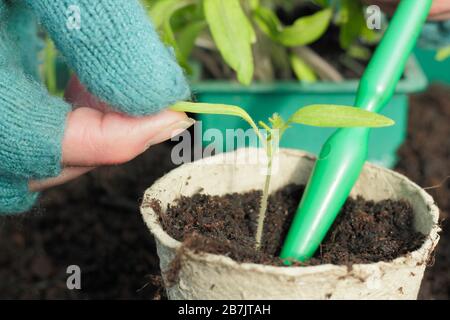
[[[450,214],[450,90],[432,87],[411,98],[408,140],[398,170],[429,190]],[[138,210],[144,190],[171,169],[170,145],[133,162],[99,169],[46,192],[28,214],[0,217],[0,298],[161,298],[154,242]],[[66,268],[79,265],[82,289],[66,288]],[[421,298],[450,298],[450,230],[444,223],[435,264]]]

